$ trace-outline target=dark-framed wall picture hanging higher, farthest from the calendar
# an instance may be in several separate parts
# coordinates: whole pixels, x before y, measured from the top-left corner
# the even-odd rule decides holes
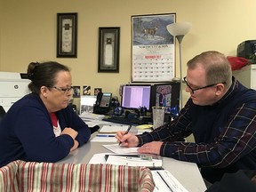
[[[57,13],[57,58],[77,57],[77,12]]]

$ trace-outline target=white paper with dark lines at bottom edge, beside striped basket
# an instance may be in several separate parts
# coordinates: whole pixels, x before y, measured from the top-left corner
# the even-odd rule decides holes
[[[157,171],[151,171],[151,172],[156,184],[156,187],[154,188],[154,192],[158,192],[158,191],[159,192],[162,192],[162,191],[188,192],[188,190],[180,184],[179,180],[177,180],[172,175],[171,172],[168,172],[166,170],[159,170],[159,171],[157,170]]]

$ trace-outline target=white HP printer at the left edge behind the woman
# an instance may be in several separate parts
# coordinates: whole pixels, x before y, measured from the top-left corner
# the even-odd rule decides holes
[[[7,112],[12,104],[30,91],[27,74],[0,72],[0,106]]]

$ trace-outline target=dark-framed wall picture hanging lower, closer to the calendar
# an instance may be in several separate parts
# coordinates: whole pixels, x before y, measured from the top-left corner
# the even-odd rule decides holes
[[[119,72],[120,28],[99,28],[98,72]]]

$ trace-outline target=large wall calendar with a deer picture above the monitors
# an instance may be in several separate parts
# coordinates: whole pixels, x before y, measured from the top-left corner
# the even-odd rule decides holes
[[[175,13],[132,16],[132,82],[172,81],[175,44],[166,26],[175,17]]]

